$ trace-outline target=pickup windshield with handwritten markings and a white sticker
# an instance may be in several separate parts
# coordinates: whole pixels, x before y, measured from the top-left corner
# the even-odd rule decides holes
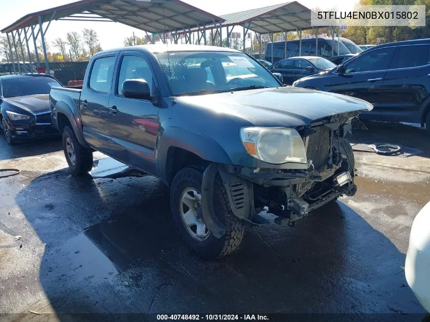
[[[183,51],[156,56],[173,96],[280,86],[266,68],[240,52]]]

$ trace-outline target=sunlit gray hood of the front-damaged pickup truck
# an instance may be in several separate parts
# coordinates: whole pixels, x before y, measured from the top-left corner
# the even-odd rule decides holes
[[[334,114],[370,111],[363,100],[300,87],[181,96],[178,101],[238,116],[255,126],[302,126]]]

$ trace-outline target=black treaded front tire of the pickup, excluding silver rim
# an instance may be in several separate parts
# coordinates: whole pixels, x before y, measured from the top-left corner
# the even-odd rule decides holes
[[[188,246],[200,257],[214,259],[230,254],[239,246],[243,238],[244,227],[240,219],[233,214],[224,185],[217,174],[214,183],[215,214],[224,224],[225,234],[217,239],[210,233],[204,241],[196,241],[189,235],[180,214],[181,193],[186,188],[194,188],[201,192],[203,172],[204,168],[186,167],[175,175],[170,187],[170,208],[179,233]]]

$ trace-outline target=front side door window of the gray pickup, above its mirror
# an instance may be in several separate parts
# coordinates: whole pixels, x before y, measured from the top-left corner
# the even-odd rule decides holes
[[[151,94],[153,93],[153,75],[148,63],[142,57],[134,55],[124,56],[118,79],[118,95],[122,95],[122,86],[126,79],[145,79],[151,89]]]

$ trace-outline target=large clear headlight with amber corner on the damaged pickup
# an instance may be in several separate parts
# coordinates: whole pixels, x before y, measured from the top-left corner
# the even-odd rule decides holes
[[[303,139],[295,129],[241,128],[245,150],[254,158],[273,164],[306,163]]]

